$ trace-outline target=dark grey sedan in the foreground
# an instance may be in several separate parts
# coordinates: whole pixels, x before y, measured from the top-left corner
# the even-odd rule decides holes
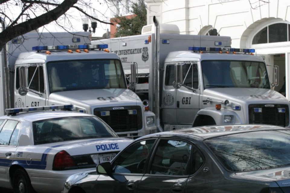
[[[221,125],[147,135],[63,193],[289,193],[290,129]]]

